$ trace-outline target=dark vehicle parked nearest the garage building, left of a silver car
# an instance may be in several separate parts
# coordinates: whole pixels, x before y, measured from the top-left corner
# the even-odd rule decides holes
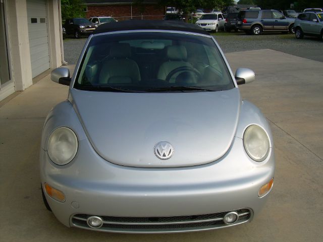
[[[75,38],[91,34],[96,27],[97,25],[83,18],[67,19],[64,24],[66,34],[73,34]]]

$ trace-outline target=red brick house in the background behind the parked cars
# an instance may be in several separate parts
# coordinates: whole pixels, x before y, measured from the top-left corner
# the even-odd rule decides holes
[[[165,7],[157,5],[157,0],[84,0],[86,18],[111,16],[117,20],[163,19]]]

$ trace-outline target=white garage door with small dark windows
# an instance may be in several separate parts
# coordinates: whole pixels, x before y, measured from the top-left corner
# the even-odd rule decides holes
[[[49,69],[47,0],[27,0],[32,77]]]

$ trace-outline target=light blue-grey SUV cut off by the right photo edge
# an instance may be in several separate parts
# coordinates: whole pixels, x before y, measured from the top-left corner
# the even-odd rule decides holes
[[[301,39],[304,35],[318,36],[323,40],[323,12],[307,12],[298,15],[295,20],[295,36]]]

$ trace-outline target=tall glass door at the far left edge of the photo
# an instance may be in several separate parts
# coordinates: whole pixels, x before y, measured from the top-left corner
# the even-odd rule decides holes
[[[0,89],[11,81],[4,1],[0,0]]]

